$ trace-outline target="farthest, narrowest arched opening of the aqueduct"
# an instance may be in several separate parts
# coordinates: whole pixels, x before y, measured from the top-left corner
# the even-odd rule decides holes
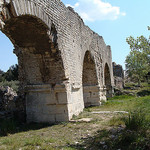
[[[111,77],[110,77],[110,70],[108,64],[105,64],[104,68],[104,82],[106,86],[106,97],[112,97],[112,86],[111,86]]]

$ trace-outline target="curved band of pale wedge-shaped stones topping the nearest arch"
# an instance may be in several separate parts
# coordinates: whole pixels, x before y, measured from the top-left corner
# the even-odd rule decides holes
[[[29,0],[7,0],[2,1],[0,5],[1,11],[1,21],[0,27],[3,28],[5,25],[5,20],[10,18],[23,16],[23,15],[31,15],[41,19],[45,25],[48,27],[51,26],[51,19],[49,15],[46,13],[45,5],[46,1],[38,2],[38,1],[29,1]]]

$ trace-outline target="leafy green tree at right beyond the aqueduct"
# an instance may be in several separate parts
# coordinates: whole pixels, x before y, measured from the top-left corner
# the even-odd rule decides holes
[[[131,49],[125,61],[126,72],[140,85],[141,80],[150,71],[150,40],[144,36],[137,37],[137,39],[130,36],[126,41]]]

